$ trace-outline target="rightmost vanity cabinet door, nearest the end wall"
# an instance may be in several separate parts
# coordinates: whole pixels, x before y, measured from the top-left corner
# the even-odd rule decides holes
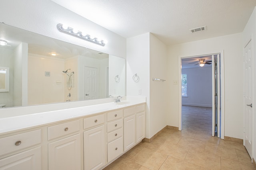
[[[136,114],[136,143],[145,138],[146,133],[146,114],[145,111]]]

